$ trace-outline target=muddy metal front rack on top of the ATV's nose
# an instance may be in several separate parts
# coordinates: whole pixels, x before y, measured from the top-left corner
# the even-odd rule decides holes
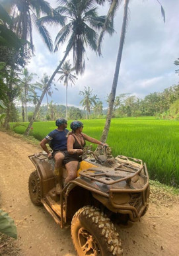
[[[122,163],[118,165],[118,167],[116,168],[106,168],[106,167],[89,168],[87,170],[80,171],[79,175],[87,179],[98,181],[105,185],[112,185],[122,181],[126,181],[126,183],[129,185],[131,182],[131,179],[135,175],[140,175],[141,171],[143,171],[143,177],[147,178],[147,176],[144,175],[145,169],[143,165],[130,166],[127,163]]]

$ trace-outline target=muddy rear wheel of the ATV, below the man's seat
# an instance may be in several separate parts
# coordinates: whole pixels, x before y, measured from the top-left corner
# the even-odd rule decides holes
[[[37,171],[33,171],[33,173],[30,173],[30,177],[28,179],[28,191],[30,194],[30,199],[32,200],[33,204],[42,204],[40,193],[40,179]]]

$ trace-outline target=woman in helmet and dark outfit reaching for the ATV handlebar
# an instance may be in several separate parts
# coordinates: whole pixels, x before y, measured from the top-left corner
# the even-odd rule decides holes
[[[63,160],[67,169],[65,185],[67,185],[69,181],[73,181],[73,179],[77,178],[78,163],[81,161],[80,155],[83,154],[83,148],[86,144],[85,140],[101,146],[108,146],[108,144],[104,144],[99,140],[91,138],[87,134],[83,134],[83,123],[80,121],[71,122],[70,128],[72,131],[67,134],[67,154]]]

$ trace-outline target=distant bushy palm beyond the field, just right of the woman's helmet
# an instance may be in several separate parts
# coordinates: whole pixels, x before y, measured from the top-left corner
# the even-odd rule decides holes
[[[93,105],[96,104],[96,101],[93,96],[91,96],[92,90],[90,90],[90,87],[85,86],[85,91],[80,91],[79,95],[83,96],[83,100],[80,102],[82,103],[84,110],[87,110],[86,118],[89,118],[90,115],[90,109]]]

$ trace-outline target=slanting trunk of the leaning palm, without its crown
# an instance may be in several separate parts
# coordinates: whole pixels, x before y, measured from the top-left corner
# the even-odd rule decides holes
[[[59,68],[61,67],[61,65],[63,64],[63,62],[65,61],[65,59],[67,58],[67,55],[69,54],[71,48],[72,48],[73,44],[71,44],[71,47],[69,48],[69,50],[65,53],[65,56],[63,57],[63,59],[61,60],[60,64],[57,66],[57,68],[55,69],[54,73],[52,74],[52,77],[50,77],[50,80],[48,81],[47,86],[44,88],[44,91],[42,91],[42,95],[40,96],[40,99],[38,101],[38,104],[36,105],[36,108],[34,110],[34,114],[32,116],[32,119],[30,120],[30,123],[28,124],[28,127],[26,128],[24,135],[28,136],[29,132],[30,132],[30,128],[32,127],[32,124],[34,122],[34,120],[36,120],[36,115],[38,113],[38,110],[40,108],[40,105],[42,103],[42,100],[44,99],[44,95],[46,94],[46,91],[48,90],[48,88],[50,87],[55,75],[57,74],[57,71],[59,71]]]

